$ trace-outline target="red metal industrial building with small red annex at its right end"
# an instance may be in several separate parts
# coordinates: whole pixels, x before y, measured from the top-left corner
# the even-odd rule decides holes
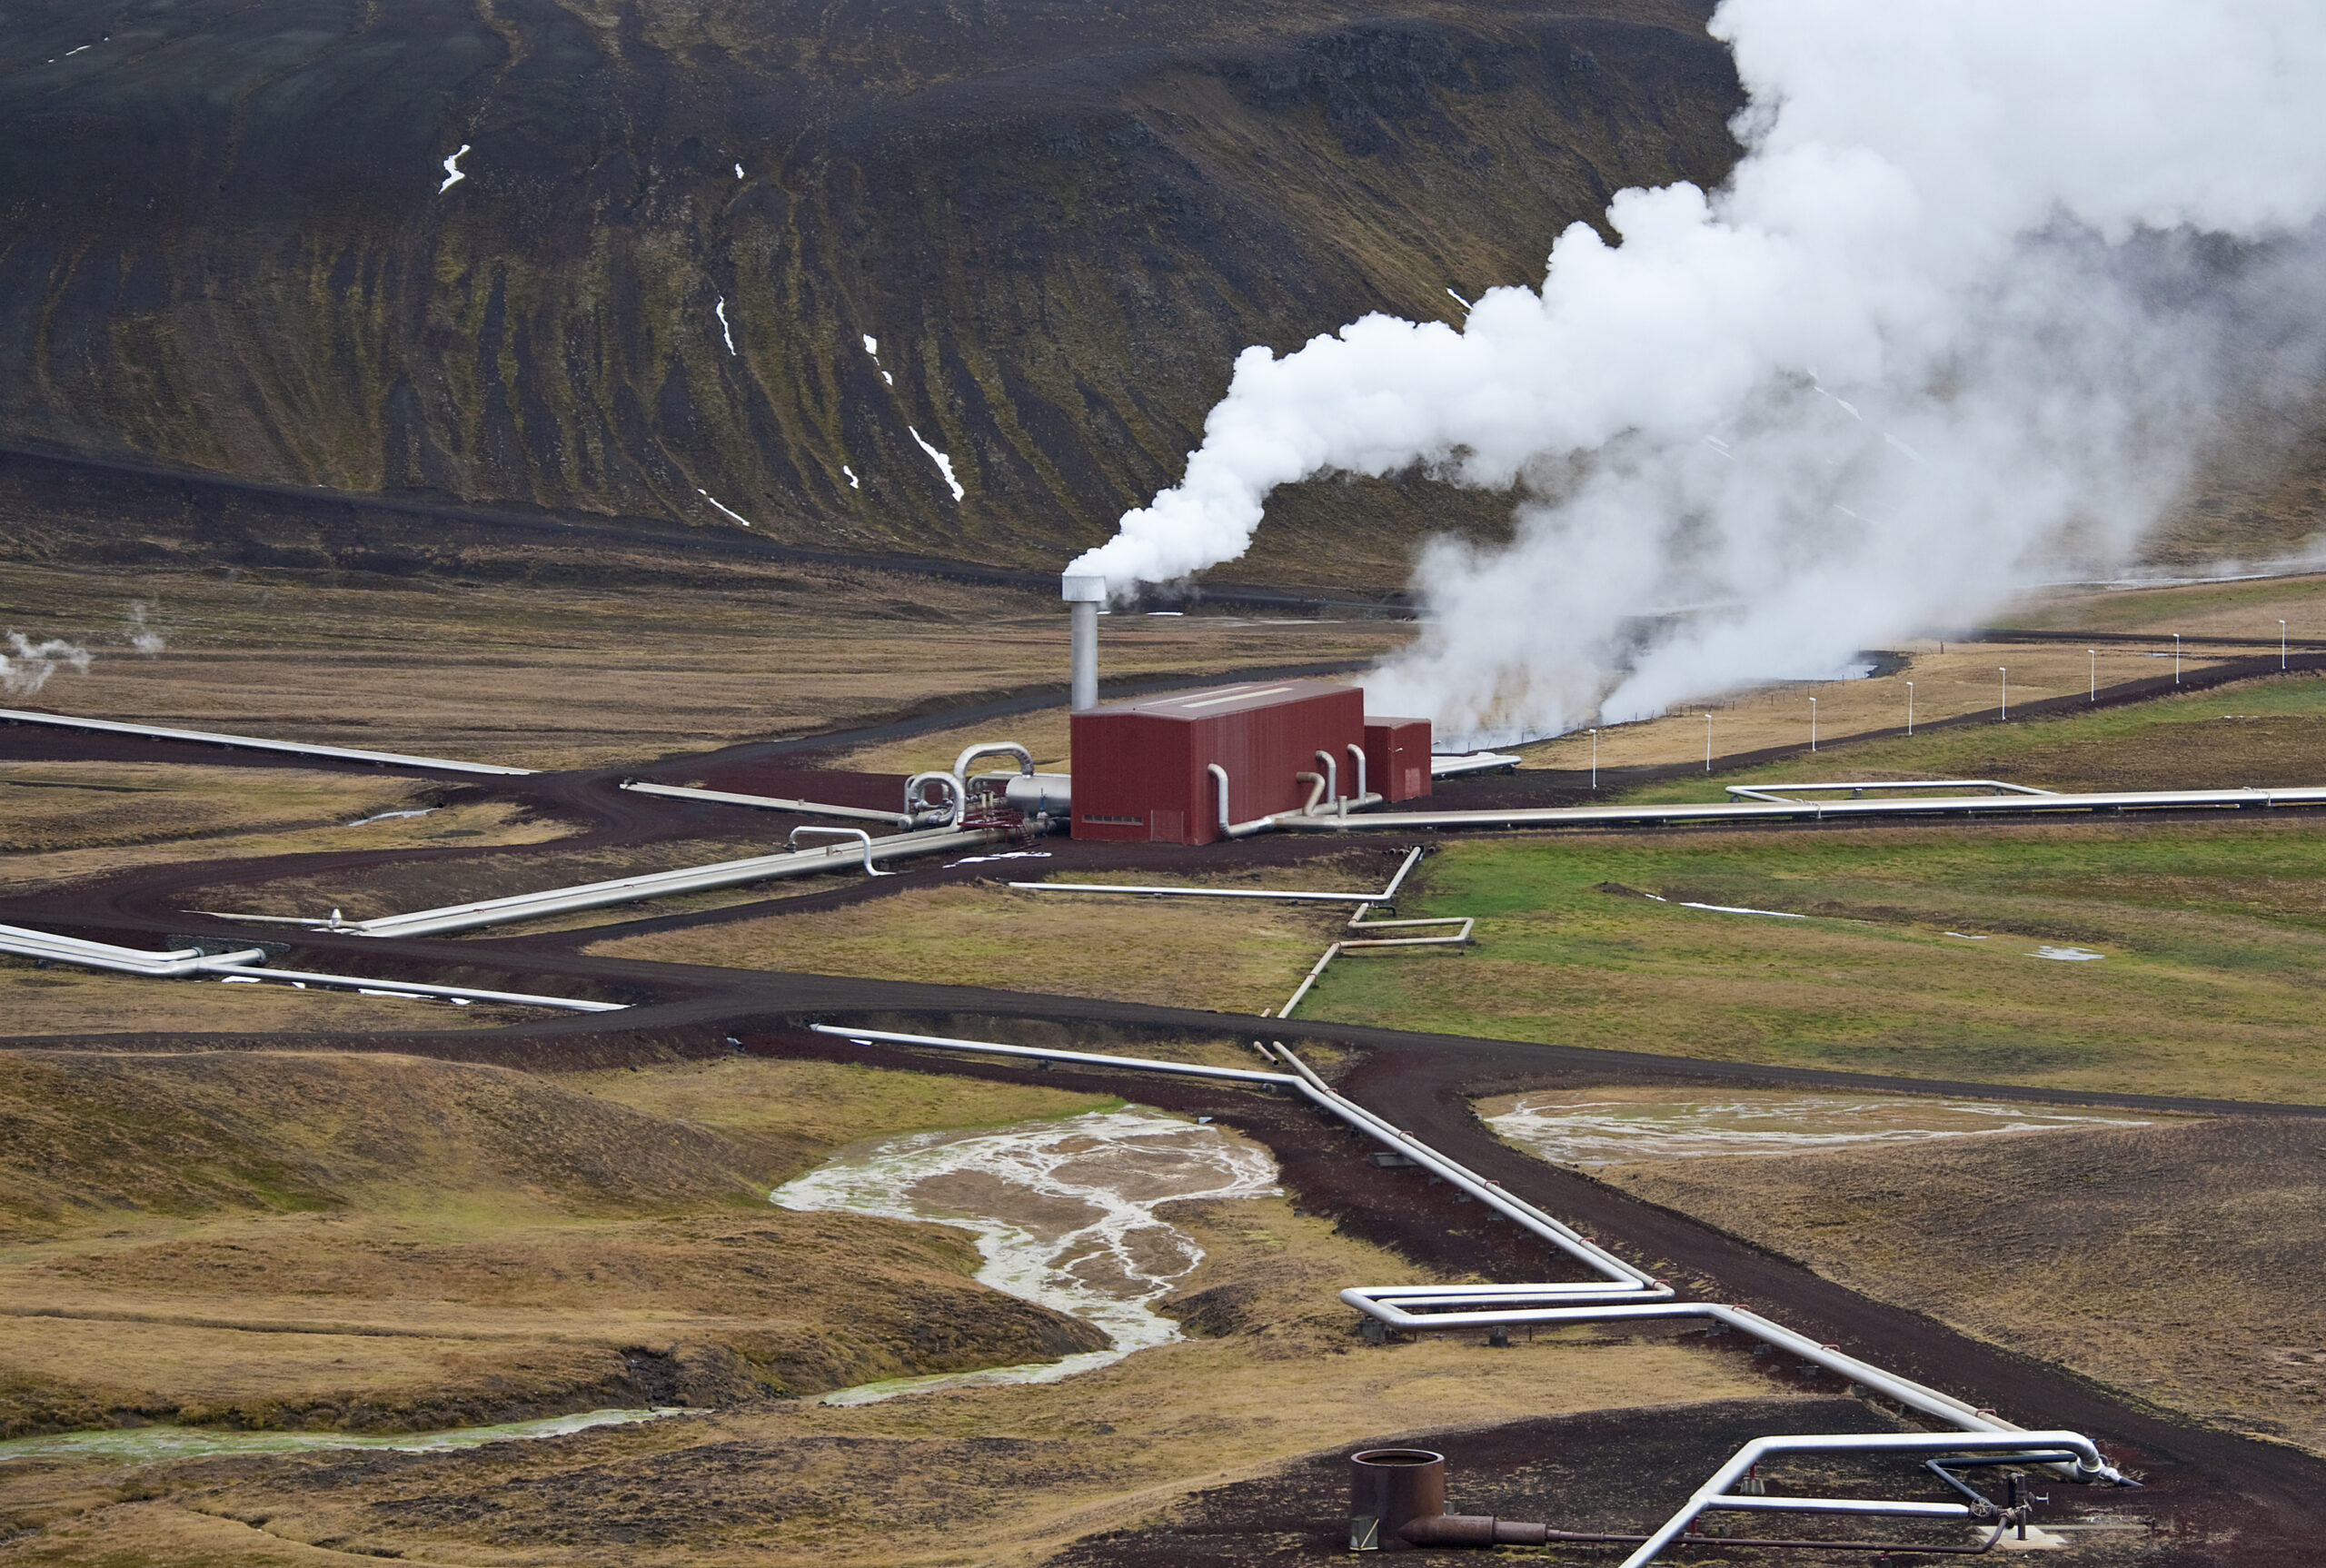
[[[1091,707],[1072,717],[1072,747],[1075,838],[1098,840],[1210,844],[1223,838],[1221,786],[1226,819],[1251,821],[1307,805],[1314,784],[1303,772],[1330,777],[1326,803],[1356,798],[1361,756],[1368,789],[1391,800],[1428,793],[1430,777],[1428,721],[1368,724],[1365,693],[1326,682],[1251,682]],[[1386,772],[1372,777],[1375,768]]]

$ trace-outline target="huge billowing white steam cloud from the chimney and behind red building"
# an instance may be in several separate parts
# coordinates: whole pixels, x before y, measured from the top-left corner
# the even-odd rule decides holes
[[[2314,0],[1724,0],[1728,186],[1624,191],[1540,291],[1235,363],[1186,477],[1070,570],[1230,561],[1268,493],[1517,486],[1370,684],[1470,735],[1642,717],[2121,561],[2231,400],[2319,372]],[[1654,626],[1640,616],[1689,610]]]

